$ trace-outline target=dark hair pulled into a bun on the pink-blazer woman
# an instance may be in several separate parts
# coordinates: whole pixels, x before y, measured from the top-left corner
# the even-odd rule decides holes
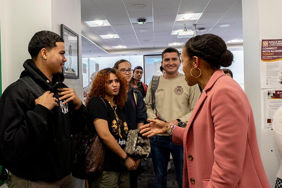
[[[186,42],[183,51],[190,58],[197,56],[205,60],[214,69],[228,67],[233,62],[233,54],[227,50],[224,40],[214,34],[192,37]]]

